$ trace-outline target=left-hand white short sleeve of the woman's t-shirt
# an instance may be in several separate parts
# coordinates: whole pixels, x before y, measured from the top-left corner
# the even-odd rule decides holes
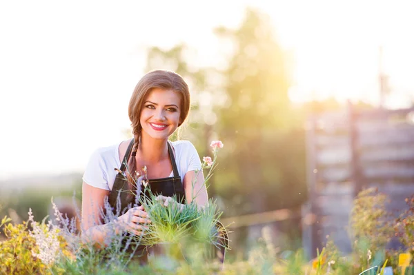
[[[93,187],[110,190],[108,186],[108,174],[106,172],[105,161],[103,161],[99,150],[96,150],[90,156],[82,179],[85,183],[88,183],[88,185]]]

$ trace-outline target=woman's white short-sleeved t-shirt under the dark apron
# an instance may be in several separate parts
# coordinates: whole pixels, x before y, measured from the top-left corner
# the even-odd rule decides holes
[[[119,161],[120,144],[101,147],[92,153],[82,177],[85,183],[104,190],[112,190],[115,176],[118,174],[115,168],[121,167]],[[201,169],[199,155],[190,141],[175,141],[172,142],[172,147],[175,150],[178,174],[181,176],[181,182],[184,182],[184,176],[187,172]],[[170,176],[173,176],[172,171]]]

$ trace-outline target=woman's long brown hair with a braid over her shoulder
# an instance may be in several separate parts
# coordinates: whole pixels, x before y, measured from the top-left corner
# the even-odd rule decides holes
[[[141,136],[141,123],[139,122],[141,116],[141,109],[144,100],[154,88],[163,90],[173,90],[178,92],[181,97],[179,125],[181,125],[188,115],[190,110],[190,92],[186,81],[177,73],[167,70],[154,70],[144,75],[137,85],[130,99],[128,114],[132,126],[132,134],[135,138],[134,146],[132,147],[132,156],[128,161],[128,170],[131,174],[135,174],[137,170],[137,161],[135,160],[135,152],[138,150],[139,138]],[[132,183],[132,175],[128,174],[128,183]],[[130,186],[132,188],[132,186]]]

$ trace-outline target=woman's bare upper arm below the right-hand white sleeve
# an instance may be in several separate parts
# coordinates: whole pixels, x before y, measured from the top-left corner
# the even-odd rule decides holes
[[[200,172],[189,171],[184,176],[184,190],[186,192],[186,201],[191,203],[193,200],[199,206],[208,204],[207,188],[204,184],[204,174]]]

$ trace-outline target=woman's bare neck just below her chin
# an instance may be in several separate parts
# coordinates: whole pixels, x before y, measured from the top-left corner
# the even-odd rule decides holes
[[[146,163],[155,163],[168,157],[168,139],[151,139],[141,136],[137,155]]]

